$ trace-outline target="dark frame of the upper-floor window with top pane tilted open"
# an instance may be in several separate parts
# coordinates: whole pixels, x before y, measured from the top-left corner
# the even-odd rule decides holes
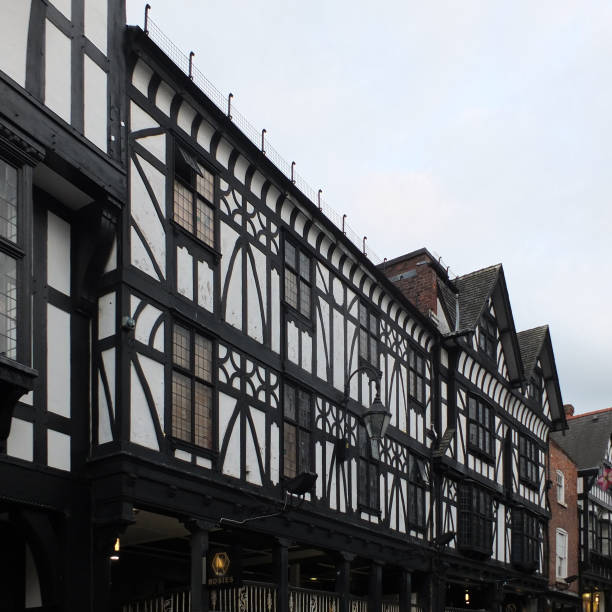
[[[191,159],[191,162],[187,162],[187,158]],[[190,178],[187,179],[184,175],[180,174],[177,170],[179,163],[177,159],[182,159],[180,165],[185,165],[190,168]],[[191,147],[184,145],[178,139],[174,140],[174,150],[172,158],[172,181],[171,181],[171,201],[172,201],[172,216],[171,220],[175,228],[189,236],[192,240],[195,240],[199,245],[205,249],[211,251],[216,257],[220,255],[218,250],[219,244],[219,232],[218,232],[218,219],[219,219],[219,177],[218,172],[206,162],[201,155],[193,152]],[[202,191],[198,188],[197,171],[194,168],[194,164],[211,175],[212,182],[212,200],[208,199]],[[200,176],[204,175],[199,173]],[[180,185],[183,189],[186,189],[191,194],[191,228],[186,227],[177,215],[177,189],[176,185]],[[205,238],[198,235],[198,202],[202,202],[212,212],[212,244],[210,244]]]

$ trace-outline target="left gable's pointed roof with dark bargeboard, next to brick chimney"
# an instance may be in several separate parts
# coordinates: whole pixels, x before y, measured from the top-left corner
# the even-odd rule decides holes
[[[456,293],[444,283],[439,285],[440,301],[450,322],[451,334],[474,331],[492,298],[510,380],[522,380],[523,366],[502,265],[464,274],[454,279],[453,284]]]

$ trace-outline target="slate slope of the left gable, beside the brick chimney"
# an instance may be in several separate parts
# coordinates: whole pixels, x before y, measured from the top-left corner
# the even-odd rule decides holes
[[[457,298],[447,285],[440,283],[440,296],[444,301],[444,309],[453,331],[462,332],[475,329],[487,299],[495,288],[500,270],[501,264],[497,264],[458,276],[453,280],[459,296],[459,326],[457,329],[455,321]]]

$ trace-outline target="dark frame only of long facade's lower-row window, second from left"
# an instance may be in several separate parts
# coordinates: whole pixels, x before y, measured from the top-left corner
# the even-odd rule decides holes
[[[294,401],[294,410],[293,416],[288,415],[287,411],[287,397],[288,392],[291,390],[291,394],[293,395]],[[300,396],[307,396],[308,400],[308,422],[305,423],[302,420],[302,413],[300,411]],[[314,462],[314,440],[313,440],[313,432],[314,432],[314,397],[313,394],[304,389],[304,387],[294,384],[292,381],[284,381],[283,382],[283,469],[282,476],[285,479],[294,478],[301,472],[312,472],[313,470],[313,462]],[[287,472],[287,432],[289,431],[289,427],[295,429],[295,447],[293,452],[294,456],[294,465],[295,468],[292,472]],[[308,465],[304,465],[303,463],[303,455],[301,453],[304,448],[303,440],[306,439],[306,447],[308,451]]]

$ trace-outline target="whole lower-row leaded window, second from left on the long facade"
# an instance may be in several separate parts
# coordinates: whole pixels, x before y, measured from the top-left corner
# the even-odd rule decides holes
[[[312,396],[285,383],[283,409],[283,475],[293,478],[312,471]]]

